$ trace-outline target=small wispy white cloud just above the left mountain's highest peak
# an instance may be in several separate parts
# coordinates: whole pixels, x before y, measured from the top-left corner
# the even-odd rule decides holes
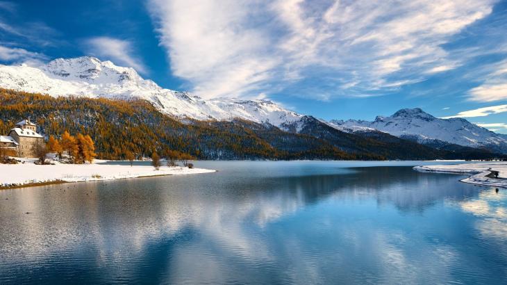
[[[118,65],[133,67],[141,73],[147,73],[147,68],[142,60],[134,55],[135,51],[131,42],[109,37],[90,38],[85,41],[88,53],[101,58],[112,60]]]

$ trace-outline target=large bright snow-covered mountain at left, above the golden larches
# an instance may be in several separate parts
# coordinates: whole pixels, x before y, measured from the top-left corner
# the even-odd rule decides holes
[[[142,79],[133,68],[119,67],[90,56],[58,58],[40,67],[0,65],[0,87],[55,97],[146,99],[163,113],[196,120],[241,118],[280,126],[304,116],[268,100],[204,100],[188,92],[164,89],[151,80]]]

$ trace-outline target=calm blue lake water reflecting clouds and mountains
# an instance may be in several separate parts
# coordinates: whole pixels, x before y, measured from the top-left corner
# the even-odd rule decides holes
[[[0,284],[507,284],[507,189],[421,164],[0,190]]]

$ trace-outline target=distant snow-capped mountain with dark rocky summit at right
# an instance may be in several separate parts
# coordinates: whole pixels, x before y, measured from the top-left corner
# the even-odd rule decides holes
[[[440,119],[420,108],[401,109],[390,117],[377,116],[373,122],[332,120],[331,126],[349,133],[379,130],[399,138],[432,144],[435,140],[466,147],[493,147],[507,152],[507,139],[463,118]]]

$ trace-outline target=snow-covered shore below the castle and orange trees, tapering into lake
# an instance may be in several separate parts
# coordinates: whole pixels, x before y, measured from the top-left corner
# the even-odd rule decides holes
[[[63,164],[35,165],[32,161],[19,164],[0,164],[0,187],[42,184],[52,181],[79,182],[209,173],[215,170],[202,168],[160,167],[149,165]]]

